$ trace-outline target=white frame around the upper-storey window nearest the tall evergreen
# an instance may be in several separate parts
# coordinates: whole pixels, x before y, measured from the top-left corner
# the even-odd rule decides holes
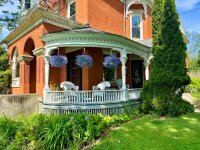
[[[140,16],[140,38],[133,38],[132,35],[132,17],[133,16]],[[130,15],[130,37],[133,40],[143,40],[143,14],[131,14]]]

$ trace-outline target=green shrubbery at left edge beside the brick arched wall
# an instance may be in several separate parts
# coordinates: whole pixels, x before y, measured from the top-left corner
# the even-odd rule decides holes
[[[0,44],[0,93],[9,93],[10,89],[10,70],[8,54],[5,47]]]

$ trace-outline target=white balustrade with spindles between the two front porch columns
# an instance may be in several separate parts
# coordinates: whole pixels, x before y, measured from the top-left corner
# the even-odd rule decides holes
[[[47,92],[45,103],[110,103],[124,99],[124,90],[106,91],[51,91]]]

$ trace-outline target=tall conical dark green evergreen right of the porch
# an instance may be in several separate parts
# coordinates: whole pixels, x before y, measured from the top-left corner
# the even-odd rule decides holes
[[[158,8],[159,3],[154,1],[154,7]],[[153,33],[153,68],[142,92],[142,107],[146,113],[177,116],[193,111],[193,107],[182,100],[183,89],[190,83],[185,62],[186,44],[179,29],[175,0],[164,0],[160,8],[161,13],[157,15],[162,19],[159,28],[153,26],[153,31],[157,31]]]

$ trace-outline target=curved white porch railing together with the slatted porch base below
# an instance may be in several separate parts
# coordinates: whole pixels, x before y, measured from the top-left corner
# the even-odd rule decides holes
[[[50,91],[43,101],[50,113],[123,113],[126,107],[138,105],[141,89],[105,91]]]

